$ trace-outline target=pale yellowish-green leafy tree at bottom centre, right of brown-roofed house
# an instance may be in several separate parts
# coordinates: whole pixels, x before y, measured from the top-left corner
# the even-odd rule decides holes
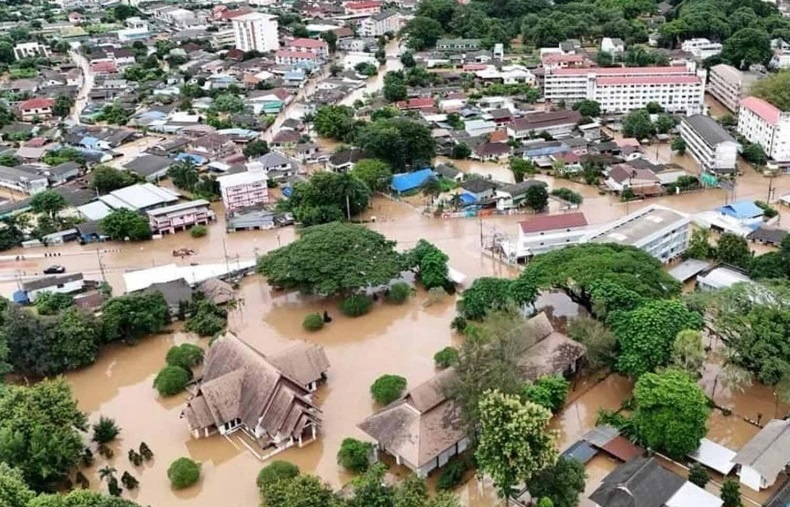
[[[518,396],[489,391],[481,398],[475,459],[501,497],[556,461],[555,434],[547,429],[550,418],[549,410]]]

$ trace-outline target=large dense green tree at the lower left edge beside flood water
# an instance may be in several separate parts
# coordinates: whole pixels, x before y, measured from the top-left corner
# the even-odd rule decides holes
[[[85,414],[64,380],[0,390],[0,462],[18,468],[37,491],[55,488],[83,450]]]

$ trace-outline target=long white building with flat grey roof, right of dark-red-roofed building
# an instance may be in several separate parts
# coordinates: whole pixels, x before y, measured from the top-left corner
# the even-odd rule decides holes
[[[582,237],[581,242],[635,246],[666,263],[686,251],[690,235],[689,217],[652,205],[596,228]]]

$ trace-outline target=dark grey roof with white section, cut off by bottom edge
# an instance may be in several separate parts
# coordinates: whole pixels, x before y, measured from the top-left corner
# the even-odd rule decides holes
[[[652,457],[637,457],[618,466],[604,477],[590,500],[598,507],[721,507],[724,503]]]

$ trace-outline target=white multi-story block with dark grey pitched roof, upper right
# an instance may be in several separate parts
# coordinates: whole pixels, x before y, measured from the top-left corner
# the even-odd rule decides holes
[[[738,158],[738,143],[724,127],[709,116],[686,116],[680,135],[688,152],[705,171],[733,172]]]

